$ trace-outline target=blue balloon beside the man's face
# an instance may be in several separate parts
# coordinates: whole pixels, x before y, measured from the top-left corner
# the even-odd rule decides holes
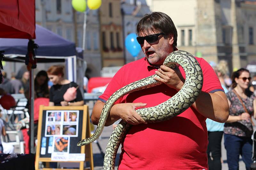
[[[136,57],[141,50],[140,44],[136,38],[137,35],[135,33],[131,33],[125,38],[125,47],[133,57]]]

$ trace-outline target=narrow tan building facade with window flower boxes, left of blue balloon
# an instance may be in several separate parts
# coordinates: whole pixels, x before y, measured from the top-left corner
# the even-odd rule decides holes
[[[102,67],[124,65],[123,25],[120,0],[104,0],[100,6]]]

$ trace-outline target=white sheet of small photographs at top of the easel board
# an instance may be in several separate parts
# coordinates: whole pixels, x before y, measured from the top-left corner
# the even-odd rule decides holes
[[[77,137],[79,110],[48,110],[45,136]]]

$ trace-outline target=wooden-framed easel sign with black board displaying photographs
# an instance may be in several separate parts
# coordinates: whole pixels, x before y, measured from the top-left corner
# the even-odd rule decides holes
[[[41,105],[35,169],[39,169],[39,162],[79,162],[79,170],[83,170],[84,162],[89,161],[89,169],[93,170],[92,144],[76,146],[81,139],[90,137],[90,131],[87,105]]]

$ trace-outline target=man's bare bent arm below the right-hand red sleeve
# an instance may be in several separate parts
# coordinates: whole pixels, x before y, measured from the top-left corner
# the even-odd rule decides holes
[[[192,105],[204,117],[216,122],[224,123],[228,119],[229,106],[224,92],[215,93],[201,92],[196,102]]]

